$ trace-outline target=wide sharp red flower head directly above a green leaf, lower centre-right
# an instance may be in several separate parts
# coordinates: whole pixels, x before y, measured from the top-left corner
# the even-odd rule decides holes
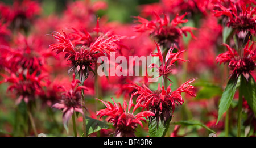
[[[165,90],[164,86],[158,86],[158,90],[151,91],[147,86],[144,84],[138,86],[134,83],[133,88],[136,89],[134,95],[138,95],[137,104],[139,106],[146,108],[149,111],[155,113],[154,117],[150,117],[150,122],[152,119],[156,118],[157,124],[159,120],[162,121],[164,124],[172,119],[175,104],[182,105],[184,100],[181,96],[182,92],[185,92],[193,97],[196,96],[195,92],[191,91],[194,88],[190,83],[194,82],[195,79],[191,79],[184,84],[182,84],[176,91],[171,90],[171,84]]]

